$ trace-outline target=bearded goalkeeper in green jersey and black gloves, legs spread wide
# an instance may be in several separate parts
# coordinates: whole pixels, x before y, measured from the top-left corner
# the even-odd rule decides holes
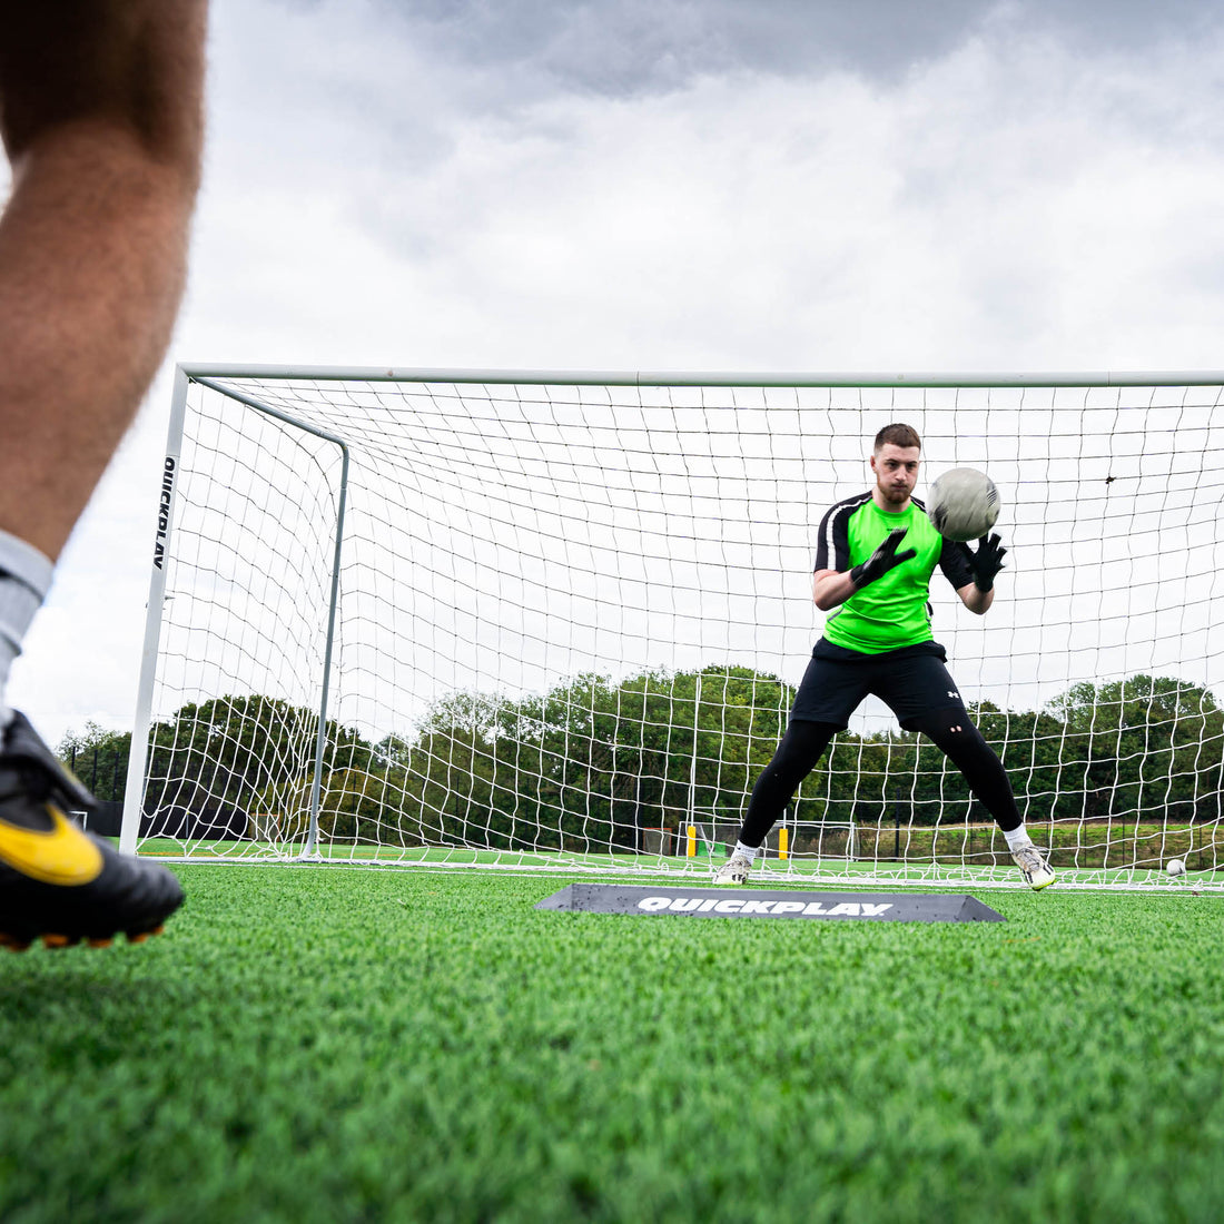
[[[938,565],[961,602],[984,614],[1007,550],[998,535],[984,537],[973,552],[936,532],[913,497],[920,455],[922,442],[908,425],[880,430],[870,457],[875,487],[838,502],[820,523],[812,599],[830,616],[716,884],[747,883],[770,829],[869,693],[887,704],[906,731],[931,739],[965,775],[999,823],[1028,885],[1054,883],[1049,863],[1024,831],[1002,763],[973,725],[944,666],[947,655],[931,634],[927,602]]]

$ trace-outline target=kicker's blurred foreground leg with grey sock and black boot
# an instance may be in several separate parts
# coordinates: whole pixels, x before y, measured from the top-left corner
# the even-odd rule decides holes
[[[93,799],[5,705],[53,563],[148,389],[200,175],[204,0],[0,0],[0,944],[105,942],[182,900],[67,813]]]

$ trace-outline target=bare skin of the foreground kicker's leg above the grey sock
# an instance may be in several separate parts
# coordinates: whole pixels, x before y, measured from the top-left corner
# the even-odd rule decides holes
[[[0,0],[0,530],[56,558],[169,343],[203,0]]]

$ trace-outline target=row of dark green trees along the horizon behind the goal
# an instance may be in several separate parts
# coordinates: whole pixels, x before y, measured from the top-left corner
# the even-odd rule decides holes
[[[644,831],[736,825],[793,690],[743,667],[584,674],[543,695],[436,703],[411,736],[329,722],[322,832],[379,843],[643,848]],[[1171,677],[1083,682],[1037,711],[971,705],[1029,821],[1214,820],[1224,711]],[[297,840],[311,810],[317,712],[268,696],[187,704],[153,728],[144,810],[165,831]],[[130,736],[89,725],[60,755],[121,798]],[[82,769],[84,763],[84,769]],[[842,732],[793,805],[799,821],[988,819],[929,742]]]

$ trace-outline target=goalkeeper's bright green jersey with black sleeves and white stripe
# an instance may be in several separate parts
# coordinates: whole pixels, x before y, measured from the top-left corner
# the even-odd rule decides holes
[[[916,556],[830,612],[825,640],[864,655],[930,641],[930,579],[935,567],[957,590],[973,581],[968,550],[945,540],[931,526],[922,502],[911,498],[905,510],[890,514],[875,504],[870,492],[838,502],[820,520],[815,569],[853,569],[897,528],[906,529],[898,551],[913,548]]]

